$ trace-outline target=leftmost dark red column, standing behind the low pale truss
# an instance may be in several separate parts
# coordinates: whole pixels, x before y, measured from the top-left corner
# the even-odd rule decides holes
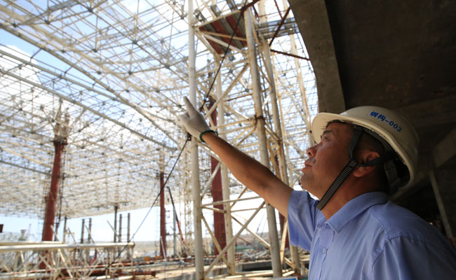
[[[58,183],[60,180],[60,162],[62,162],[62,153],[67,144],[66,139],[62,141],[54,140],[55,155],[54,165],[51,177],[51,189],[46,197],[46,214],[44,215],[42,241],[53,241],[54,232],[52,226],[55,222],[55,209],[57,208]]]

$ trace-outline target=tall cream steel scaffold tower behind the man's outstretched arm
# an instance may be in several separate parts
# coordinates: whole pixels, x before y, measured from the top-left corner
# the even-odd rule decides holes
[[[283,10],[287,10],[288,7],[284,3]],[[218,7],[218,6],[217,6]],[[213,125],[214,130],[218,130],[220,136],[228,139],[234,146],[240,148],[254,158],[257,158],[262,162],[263,165],[269,167],[272,165],[276,174],[286,183],[294,184],[297,180],[296,169],[299,168],[299,160],[304,158],[305,147],[311,144],[309,138],[309,132],[305,127],[310,127],[310,110],[309,110],[309,97],[311,94],[306,92],[309,88],[304,85],[302,79],[302,59],[298,58],[301,54],[297,52],[295,36],[290,34],[285,38],[271,38],[276,39],[276,44],[271,44],[274,48],[280,48],[279,52],[284,53],[281,55],[271,55],[271,47],[267,38],[269,37],[269,31],[264,36],[261,27],[267,25],[269,20],[266,13],[266,6],[264,2],[260,2],[255,10],[246,10],[243,13],[241,30],[236,30],[236,37],[233,37],[236,41],[233,44],[227,43],[228,36],[227,31],[236,29],[234,24],[230,27],[226,27],[229,22],[229,17],[235,15],[236,10],[226,11],[224,20],[224,13],[220,12],[221,8],[214,8],[213,6],[208,7],[207,14],[203,13],[203,8],[198,8],[198,16],[196,18],[200,20],[192,20],[189,16],[189,22],[194,22],[191,28],[194,29],[199,41],[208,48],[212,59],[207,58],[208,64],[202,67],[200,71],[196,70],[194,76],[195,89],[194,92],[190,91],[190,100],[194,104],[202,102],[205,94],[208,92],[208,84],[205,80],[206,76],[210,78],[217,78],[217,86],[213,87],[210,92],[210,97],[216,100],[212,107],[203,104],[204,113],[208,122],[210,123],[209,116],[215,109],[218,110],[217,125]],[[218,13],[215,13],[217,10]],[[258,17],[255,18],[253,13],[256,13]],[[213,13],[211,13],[211,11]],[[280,10],[279,10],[280,12]],[[284,11],[283,11],[284,12]],[[241,13],[241,12],[239,12]],[[190,14],[190,12],[189,12]],[[286,13],[288,14],[288,12]],[[274,15],[269,15],[274,18]],[[212,20],[209,20],[213,18]],[[234,17],[236,18],[236,17]],[[203,21],[201,20],[203,19]],[[281,22],[286,22],[286,18],[281,18]],[[288,20],[289,22],[290,20]],[[210,26],[208,26],[210,25]],[[220,28],[222,25],[224,28]],[[212,29],[215,29],[213,31]],[[210,31],[208,31],[210,30]],[[192,30],[191,30],[192,31]],[[217,33],[217,31],[219,33]],[[241,34],[245,32],[246,37],[241,37]],[[276,32],[278,34],[278,32]],[[192,34],[190,35],[192,36]],[[266,38],[265,38],[266,37]],[[192,38],[190,37],[190,40]],[[239,42],[240,41],[240,42]],[[243,48],[243,41],[246,41],[246,47]],[[238,48],[236,48],[238,47]],[[285,48],[284,48],[285,47]],[[220,61],[224,54],[221,50],[229,49],[229,60],[227,64],[222,65],[220,76],[214,77],[215,73],[220,66]],[[190,52],[192,52],[192,45],[190,45]],[[277,51],[275,51],[277,52]],[[288,55],[290,54],[290,55]],[[192,61],[190,61],[190,69],[192,69]],[[307,64],[308,66],[308,64]],[[282,71],[278,71],[278,68]],[[192,70],[190,70],[191,73]],[[279,77],[281,75],[286,76],[288,73],[293,73],[293,79],[295,80],[294,85],[284,85],[283,81]],[[213,75],[210,75],[213,73]],[[299,76],[298,76],[299,73]],[[190,83],[192,85],[192,75],[189,76]],[[287,76],[288,79],[288,76]],[[297,86],[296,86],[297,85]],[[191,87],[192,88],[192,87]],[[293,92],[294,90],[294,92]],[[236,104],[233,106],[232,104]],[[290,139],[293,139],[293,144],[289,144]],[[302,141],[297,144],[297,141]],[[288,146],[284,148],[283,144]],[[203,144],[195,141],[192,142],[192,146],[189,150],[192,156],[195,157],[197,152],[196,146],[199,146],[200,151],[208,153],[208,155],[214,156],[211,151],[206,148]],[[302,148],[300,148],[302,147]],[[290,151],[293,149],[294,151]],[[290,155],[293,156],[291,160]],[[207,157],[207,156],[206,156]],[[232,207],[234,204],[243,200],[243,194],[245,190],[242,190],[239,197],[236,200],[230,200],[229,193],[233,193],[229,190],[232,185],[229,181],[236,182],[234,178],[228,178],[228,174],[222,173],[222,177],[227,177],[224,180],[223,187],[225,190],[223,202],[214,202],[207,204],[200,204],[207,194],[208,186],[215,175],[216,170],[211,174],[206,173],[206,176],[201,176],[199,167],[208,166],[201,162],[201,155],[199,155],[200,162],[192,160],[192,185],[193,185],[193,200],[196,206],[194,206],[194,246],[195,248],[202,248],[201,240],[201,222],[206,227],[210,236],[213,237],[213,243],[220,252],[215,260],[210,264],[209,267],[203,269],[201,265],[203,260],[202,252],[195,251],[196,255],[196,275],[197,279],[207,278],[210,270],[217,264],[218,261],[222,260],[224,265],[228,267],[229,275],[241,275],[241,272],[234,270],[234,256],[232,255],[234,250],[234,242],[241,235],[243,230],[250,232],[253,236],[269,248],[271,251],[272,260],[272,271],[269,275],[281,276],[286,274],[297,273],[299,269],[299,260],[297,251],[295,248],[291,248],[288,257],[284,254],[284,245],[286,244],[286,230],[282,233],[281,246],[279,245],[277,231],[276,231],[276,215],[274,209],[268,207],[262,203],[257,206],[257,209],[253,212],[250,218],[244,223],[240,222],[236,217],[232,215]],[[204,160],[203,160],[204,162]],[[299,169],[297,169],[299,170]],[[290,174],[290,179],[289,176]],[[208,178],[208,179],[207,179]],[[200,187],[200,182],[203,183],[203,188]],[[241,188],[242,189],[242,188]],[[217,243],[210,225],[208,225],[205,216],[201,209],[210,209],[212,211],[220,211],[216,209],[215,204],[224,204],[224,210],[222,213],[225,214],[226,229],[227,229],[227,246],[220,248]],[[269,242],[262,239],[248,229],[248,224],[255,218],[260,209],[266,207],[268,213],[269,223]],[[241,225],[241,229],[236,233],[232,230],[232,223],[236,222]],[[285,229],[287,226],[284,227]],[[275,232],[275,234],[274,234]],[[198,240],[200,238],[200,240]],[[229,251],[231,249],[231,252]],[[228,252],[228,253],[227,253]],[[225,257],[225,253],[227,256]],[[200,259],[200,260],[199,260]],[[291,268],[288,270],[282,270],[282,262],[286,262]],[[262,275],[265,275],[264,273]]]

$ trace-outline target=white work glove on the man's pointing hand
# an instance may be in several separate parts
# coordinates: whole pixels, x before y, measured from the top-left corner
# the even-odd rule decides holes
[[[206,132],[215,132],[214,130],[211,130],[208,124],[206,123],[206,120],[204,120],[204,117],[196,111],[195,107],[190,103],[189,99],[187,97],[184,97],[184,102],[185,106],[187,106],[187,112],[185,114],[179,116],[180,123],[184,125],[185,130],[189,132],[189,134],[192,134],[193,137],[196,139],[201,139],[201,136],[205,134]],[[204,141],[203,141],[204,142]]]

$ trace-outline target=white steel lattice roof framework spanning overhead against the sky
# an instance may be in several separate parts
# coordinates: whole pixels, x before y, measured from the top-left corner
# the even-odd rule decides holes
[[[115,205],[122,210],[152,205],[159,192],[156,174],[162,164],[169,174],[187,137],[175,118],[183,112],[180,104],[189,87],[186,2],[0,1],[1,34],[15,38],[13,44],[2,40],[0,46],[0,188],[8,194],[0,199],[1,214],[42,217],[57,124],[69,130],[61,216],[110,213]],[[293,15],[282,20],[286,3],[268,0],[265,5],[266,22],[257,18],[255,28],[257,40],[274,40],[271,59],[293,184],[310,141],[307,127],[317,110],[316,87],[311,66],[302,59],[306,51]],[[219,62],[222,57],[213,43],[223,48],[226,38],[200,27],[242,6],[239,0],[194,1],[199,104],[217,72],[214,57]],[[257,61],[266,129],[274,135],[261,52]],[[246,63],[246,48],[237,44],[220,68],[226,92],[224,130],[229,141],[257,157]],[[217,100],[215,88],[210,96]],[[189,198],[187,153],[168,181],[175,201]],[[200,156],[204,185],[210,168],[208,155]],[[235,179],[230,181],[232,193],[243,190]]]

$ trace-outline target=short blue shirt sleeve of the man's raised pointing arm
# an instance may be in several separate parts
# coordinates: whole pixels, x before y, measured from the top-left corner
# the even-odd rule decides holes
[[[316,227],[316,200],[305,191],[293,190],[288,201],[290,243],[310,251]],[[318,211],[318,213],[321,213]]]

